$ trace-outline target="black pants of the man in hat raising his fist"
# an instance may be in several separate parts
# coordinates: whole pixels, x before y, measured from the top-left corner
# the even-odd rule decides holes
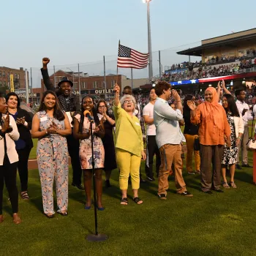
[[[71,158],[71,165],[73,169],[73,181],[72,183],[81,184],[82,170],[79,159],[79,140],[75,140],[73,134],[67,136],[67,147],[69,150],[69,157]]]

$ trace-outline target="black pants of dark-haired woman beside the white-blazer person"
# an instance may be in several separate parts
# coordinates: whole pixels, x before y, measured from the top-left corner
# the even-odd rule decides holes
[[[31,148],[17,149],[19,155],[18,172],[20,176],[21,191],[28,191],[29,169],[28,161]]]

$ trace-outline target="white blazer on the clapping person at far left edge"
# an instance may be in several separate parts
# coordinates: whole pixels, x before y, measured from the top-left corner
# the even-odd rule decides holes
[[[3,115],[5,117],[6,115]],[[15,119],[10,116],[10,125],[12,126],[12,132],[5,134],[5,139],[7,142],[7,156],[10,160],[10,163],[18,162],[19,157],[16,151],[16,146],[14,140],[18,140],[20,138],[20,134],[18,132],[18,128],[15,122]],[[1,129],[1,124],[0,124]],[[0,135],[0,165],[4,163],[4,138]]]

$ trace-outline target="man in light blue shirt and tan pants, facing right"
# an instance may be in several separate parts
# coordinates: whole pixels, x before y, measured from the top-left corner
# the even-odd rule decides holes
[[[156,140],[161,157],[158,195],[163,200],[166,200],[167,189],[169,188],[168,176],[173,162],[177,194],[192,197],[187,191],[182,176],[181,142],[185,141],[185,138],[178,124],[178,121],[183,119],[181,98],[177,91],[170,91],[170,89],[170,83],[164,81],[160,81],[155,87],[158,98],[154,105],[154,124],[157,127]],[[167,101],[171,95],[177,102],[177,110],[173,110],[168,105]]]

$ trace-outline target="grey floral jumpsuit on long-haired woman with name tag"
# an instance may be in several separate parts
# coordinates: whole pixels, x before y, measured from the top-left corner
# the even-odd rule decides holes
[[[37,112],[39,130],[50,128],[54,122],[65,129],[64,120],[48,116],[45,111]],[[46,135],[37,143],[37,163],[42,187],[42,203],[45,214],[54,214],[53,181],[56,183],[58,212],[67,211],[68,204],[68,151],[67,140],[61,135]]]

